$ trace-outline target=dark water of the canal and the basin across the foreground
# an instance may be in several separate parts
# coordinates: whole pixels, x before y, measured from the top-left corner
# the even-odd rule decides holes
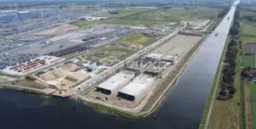
[[[218,26],[218,38],[212,34],[189,62],[183,76],[166,94],[164,102],[152,115],[127,120],[108,115],[64,98],[44,98],[37,95],[0,90],[1,128],[49,129],[197,129],[212,87],[225,37],[235,8]],[[73,108],[75,105],[75,109]],[[157,119],[153,118],[157,115]]]

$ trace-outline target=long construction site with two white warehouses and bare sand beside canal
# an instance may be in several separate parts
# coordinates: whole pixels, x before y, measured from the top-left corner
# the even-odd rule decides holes
[[[78,97],[131,115],[138,114],[153,98],[164,92],[162,84],[170,76],[177,76],[175,70],[189,60],[204,38],[203,35],[173,36],[105,76]]]

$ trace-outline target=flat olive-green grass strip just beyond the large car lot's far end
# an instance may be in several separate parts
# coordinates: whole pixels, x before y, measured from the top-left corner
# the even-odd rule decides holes
[[[166,23],[166,21],[160,20],[108,20],[104,24],[112,25],[134,25],[134,26],[153,26],[161,25]]]

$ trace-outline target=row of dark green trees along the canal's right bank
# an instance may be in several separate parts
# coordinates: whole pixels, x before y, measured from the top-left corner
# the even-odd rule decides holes
[[[240,11],[239,7],[236,8],[234,15],[234,22],[230,29],[231,41],[228,45],[227,52],[225,53],[223,78],[221,81],[221,91],[218,93],[218,100],[225,101],[233,98],[236,93],[234,87],[235,75],[236,75],[236,57],[238,53],[237,41],[235,36],[240,35]],[[236,31],[235,31],[236,30]]]

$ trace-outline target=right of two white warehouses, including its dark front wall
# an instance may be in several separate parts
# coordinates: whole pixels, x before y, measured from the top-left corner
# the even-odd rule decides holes
[[[118,96],[131,101],[143,98],[147,93],[146,91],[154,84],[154,76],[140,75],[134,81],[131,81],[127,86],[119,91]]]

